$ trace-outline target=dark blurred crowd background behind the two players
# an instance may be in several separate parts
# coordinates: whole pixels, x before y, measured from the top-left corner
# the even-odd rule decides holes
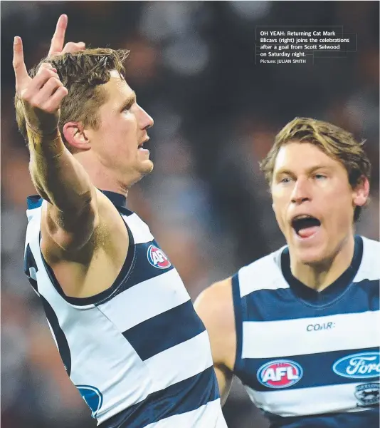
[[[66,41],[131,50],[127,81],[155,121],[155,168],[129,207],[193,299],[283,245],[258,161],[295,116],[366,138],[372,200],[357,231],[379,238],[378,1],[1,1],[2,428],[95,427],[23,274],[25,198],[35,191],[15,122],[12,44],[22,37],[31,68],[61,13]],[[358,50],[315,65],[255,66],[258,25],[342,25],[357,33]],[[267,427],[238,381],[224,410],[230,428]]]

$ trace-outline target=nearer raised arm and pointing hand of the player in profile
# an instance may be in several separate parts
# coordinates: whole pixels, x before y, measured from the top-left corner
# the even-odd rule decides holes
[[[64,250],[81,248],[97,224],[96,190],[58,131],[60,103],[68,90],[49,63],[43,63],[34,78],[28,76],[18,36],[13,64],[16,93],[26,118],[31,178],[38,193],[50,202],[41,233],[46,231]]]

